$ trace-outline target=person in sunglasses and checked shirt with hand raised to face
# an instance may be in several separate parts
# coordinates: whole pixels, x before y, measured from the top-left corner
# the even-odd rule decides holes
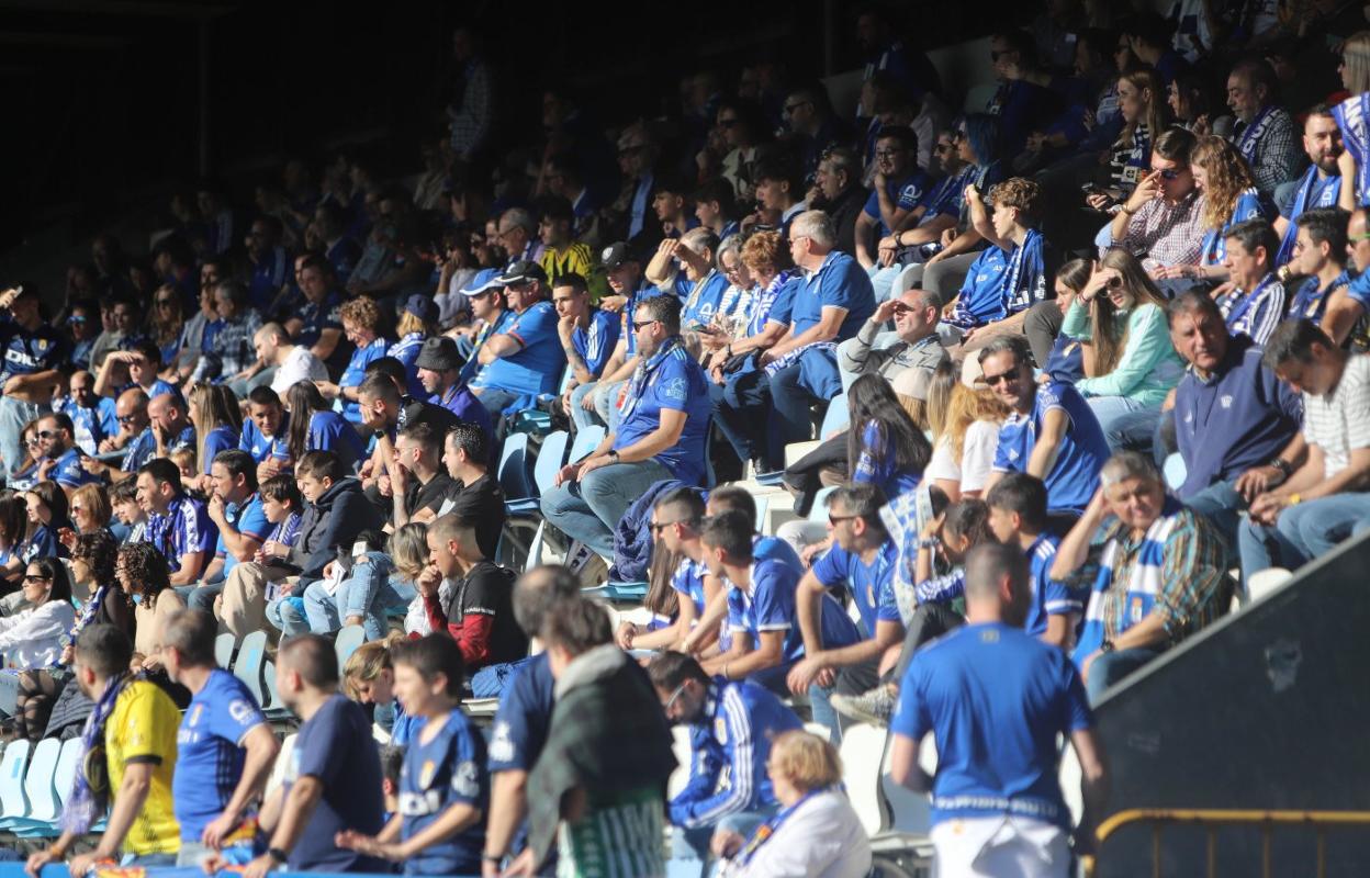
[[[1158,279],[1180,277],[1171,266],[1199,264],[1204,199],[1195,185],[1189,156],[1197,138],[1171,127],[1155,138],[1151,173],[1137,181],[1096,242],[1121,247],[1143,260]]]

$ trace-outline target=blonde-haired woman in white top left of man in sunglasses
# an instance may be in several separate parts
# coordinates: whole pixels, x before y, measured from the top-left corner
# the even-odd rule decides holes
[[[984,493],[999,448],[999,426],[1007,416],[991,390],[967,388],[951,363],[938,366],[927,390],[933,456],[923,481],[951,503]]]

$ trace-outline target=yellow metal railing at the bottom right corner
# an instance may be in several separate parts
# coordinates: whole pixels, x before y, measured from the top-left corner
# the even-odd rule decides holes
[[[1344,826],[1360,826],[1370,829],[1370,811],[1237,811],[1221,808],[1134,808],[1119,811],[1099,825],[1095,834],[1099,837],[1099,849],[1103,851],[1110,836],[1125,826],[1133,823],[1151,823],[1151,874],[1160,878],[1160,836],[1166,826],[1175,823],[1197,825],[1206,829],[1206,862],[1204,874],[1208,878],[1218,875],[1218,830],[1223,826],[1259,826],[1260,827],[1260,875],[1270,878],[1270,851],[1271,837],[1277,826],[1302,826],[1312,829],[1317,837],[1317,878],[1326,878],[1328,874],[1328,830]],[[1097,866],[1096,860],[1106,857],[1086,857],[1085,875],[1093,878]]]

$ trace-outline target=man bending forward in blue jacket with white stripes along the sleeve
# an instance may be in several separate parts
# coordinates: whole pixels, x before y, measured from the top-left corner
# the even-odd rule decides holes
[[[647,674],[666,719],[689,729],[689,781],[671,797],[667,818],[681,830],[681,841],[699,859],[703,875],[717,830],[749,836],[780,810],[766,773],[770,745],[803,725],[764,688],[712,679],[699,662],[680,652],[656,656]]]

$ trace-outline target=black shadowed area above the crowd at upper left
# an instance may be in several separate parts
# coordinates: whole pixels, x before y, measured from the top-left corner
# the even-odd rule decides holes
[[[929,48],[1034,12],[999,1],[893,8]],[[703,67],[733,81],[747,59],[777,58],[792,78],[819,77],[830,51],[832,71],[854,68],[858,10],[851,0],[0,0],[0,253],[55,226],[73,242],[89,238],[199,177],[201,41],[208,168],[241,203],[253,174],[290,156],[318,163],[345,136],[382,133],[393,147],[381,171],[416,170],[418,136],[443,125],[460,22],[481,29],[501,68],[503,138],[526,142],[549,81],[615,122],[673,115],[680,77]]]

